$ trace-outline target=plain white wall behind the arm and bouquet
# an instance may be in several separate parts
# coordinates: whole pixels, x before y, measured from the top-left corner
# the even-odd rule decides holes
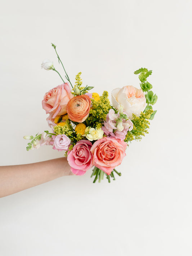
[[[71,81],[111,92],[153,70],[158,95],[149,134],[127,149],[122,176],[93,184],[62,177],[0,199],[2,256],[192,255],[191,1],[4,1],[0,9],[1,165],[62,156],[26,151],[23,135],[48,129],[45,92]],[[190,141],[190,143],[189,143]]]

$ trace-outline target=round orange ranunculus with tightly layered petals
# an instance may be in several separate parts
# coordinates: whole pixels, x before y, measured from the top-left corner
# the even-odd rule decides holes
[[[89,116],[91,99],[88,95],[73,97],[67,104],[67,114],[73,122],[82,123]]]

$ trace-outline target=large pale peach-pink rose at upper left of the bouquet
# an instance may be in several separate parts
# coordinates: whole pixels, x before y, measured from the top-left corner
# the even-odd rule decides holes
[[[66,114],[66,106],[70,99],[73,98],[68,83],[63,83],[57,87],[49,90],[42,100],[43,109],[46,110],[46,114],[53,113],[55,118],[57,115]]]

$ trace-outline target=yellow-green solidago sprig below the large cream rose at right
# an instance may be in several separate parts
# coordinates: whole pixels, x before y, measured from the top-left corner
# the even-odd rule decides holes
[[[140,116],[137,117],[135,114],[133,114],[133,130],[128,131],[128,134],[126,135],[125,142],[129,142],[132,140],[141,140],[142,136],[145,136],[146,133],[148,133],[149,128],[149,119],[153,115],[153,110],[148,109],[146,113],[141,112]]]

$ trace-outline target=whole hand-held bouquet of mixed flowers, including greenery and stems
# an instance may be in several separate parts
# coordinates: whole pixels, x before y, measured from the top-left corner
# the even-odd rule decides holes
[[[56,45],[52,46],[64,69]],[[49,60],[43,61],[41,67],[59,74]],[[73,174],[83,175],[94,166],[93,182],[97,179],[101,182],[105,175],[108,182],[110,177],[115,180],[115,173],[121,175],[115,168],[126,156],[127,146],[148,133],[149,119],[152,120],[157,111],[152,109],[157,95],[147,81],[152,70],[140,68],[134,72],[139,74],[140,89],[124,86],[112,90],[112,104],[107,91],[99,96],[97,92],[89,92],[94,87],[82,86],[81,72],[76,75],[74,86],[65,69],[64,73],[64,79],[59,74],[63,84],[46,92],[42,101],[52,132],[24,136],[31,140],[27,151],[51,145],[63,151]]]

